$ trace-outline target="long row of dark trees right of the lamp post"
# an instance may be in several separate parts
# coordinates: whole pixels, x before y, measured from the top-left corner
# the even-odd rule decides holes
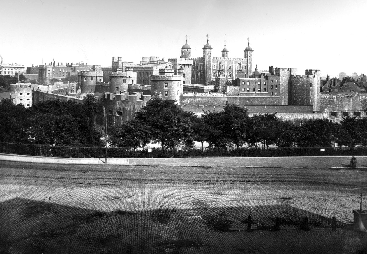
[[[305,121],[302,126],[279,121],[276,113],[249,117],[247,109],[226,105],[221,112],[202,117],[180,109],[175,101],[152,99],[134,119],[110,128],[110,142],[120,147],[160,143],[163,149],[193,146],[195,141],[214,147],[331,147],[367,145],[367,119],[345,118]]]

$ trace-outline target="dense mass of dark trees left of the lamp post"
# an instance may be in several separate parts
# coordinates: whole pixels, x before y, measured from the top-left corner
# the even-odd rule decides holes
[[[11,99],[0,102],[0,142],[42,145],[99,146],[101,133],[95,128],[101,107],[92,94],[83,104],[74,101],[45,101],[25,108]]]

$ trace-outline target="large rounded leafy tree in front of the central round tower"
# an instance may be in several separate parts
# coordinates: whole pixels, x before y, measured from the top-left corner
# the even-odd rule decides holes
[[[142,107],[135,116],[147,132],[153,143],[160,143],[162,149],[182,144],[192,136],[192,123],[185,112],[174,100],[154,98]]]

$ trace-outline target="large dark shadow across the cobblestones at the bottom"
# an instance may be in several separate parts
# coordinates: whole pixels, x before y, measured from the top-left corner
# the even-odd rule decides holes
[[[229,232],[254,224],[277,232]],[[299,229],[309,217],[311,230]],[[352,215],[351,215],[352,216]],[[210,207],[102,212],[15,198],[0,203],[0,253],[357,253],[366,235],[331,218],[289,206]],[[287,227],[287,228],[284,228]]]

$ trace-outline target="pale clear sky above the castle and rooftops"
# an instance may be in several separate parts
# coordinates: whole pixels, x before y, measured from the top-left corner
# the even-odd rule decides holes
[[[253,70],[269,66],[367,75],[366,0],[12,0],[2,1],[0,55],[25,66],[81,62],[110,66],[112,57],[139,63],[181,55],[188,37],[192,57],[253,52]],[[1,60],[0,60],[1,61]]]

